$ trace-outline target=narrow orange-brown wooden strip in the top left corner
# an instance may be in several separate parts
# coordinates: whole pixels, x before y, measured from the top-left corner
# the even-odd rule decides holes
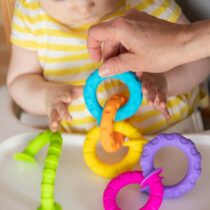
[[[0,0],[0,3],[1,14],[3,17],[4,33],[6,36],[8,50],[10,51],[10,32],[15,0]]]

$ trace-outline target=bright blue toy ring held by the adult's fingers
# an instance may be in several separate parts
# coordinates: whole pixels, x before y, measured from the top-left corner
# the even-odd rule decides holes
[[[142,103],[142,86],[139,79],[133,72],[126,72],[110,77],[100,77],[98,69],[96,69],[87,79],[84,87],[84,99],[89,112],[97,120],[100,125],[103,108],[98,102],[96,91],[100,83],[107,79],[117,79],[123,82],[130,92],[128,102],[121,107],[116,114],[115,121],[123,121],[136,113]]]

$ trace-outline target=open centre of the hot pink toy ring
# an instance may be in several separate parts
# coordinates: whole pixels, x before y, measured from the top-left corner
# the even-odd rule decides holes
[[[138,184],[130,184],[123,187],[116,198],[120,209],[136,210],[145,206],[148,201],[148,195],[139,191]]]

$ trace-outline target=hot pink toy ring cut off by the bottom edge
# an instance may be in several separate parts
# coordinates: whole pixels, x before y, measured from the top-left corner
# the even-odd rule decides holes
[[[103,204],[105,210],[120,210],[116,197],[118,192],[129,184],[140,184],[142,188],[150,188],[150,198],[140,210],[158,210],[163,200],[163,185],[160,173],[157,169],[146,178],[141,171],[125,172],[112,179],[104,191]]]

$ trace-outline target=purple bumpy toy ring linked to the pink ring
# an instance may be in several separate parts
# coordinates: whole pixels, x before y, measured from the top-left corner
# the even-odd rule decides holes
[[[164,198],[178,198],[189,192],[201,175],[201,155],[191,140],[176,133],[160,134],[145,145],[140,164],[144,176],[147,176],[155,170],[154,157],[159,149],[170,146],[181,149],[188,158],[185,177],[175,185],[164,187]]]

